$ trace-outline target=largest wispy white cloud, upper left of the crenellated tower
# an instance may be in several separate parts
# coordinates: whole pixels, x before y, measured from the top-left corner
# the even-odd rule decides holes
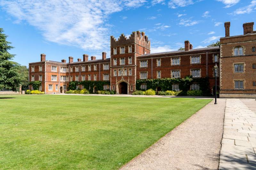
[[[58,44],[76,46],[92,53],[109,48],[110,14],[139,7],[146,0],[0,0],[16,20],[36,27],[44,39]]]

